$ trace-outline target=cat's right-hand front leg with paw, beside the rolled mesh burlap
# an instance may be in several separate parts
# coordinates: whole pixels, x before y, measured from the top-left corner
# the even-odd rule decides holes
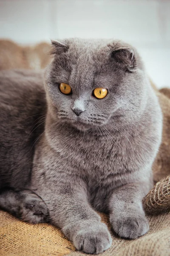
[[[144,184],[131,183],[113,192],[109,205],[110,221],[120,237],[135,239],[149,230],[142,208],[143,188]]]

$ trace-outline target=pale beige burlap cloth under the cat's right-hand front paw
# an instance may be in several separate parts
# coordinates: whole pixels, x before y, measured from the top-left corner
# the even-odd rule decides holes
[[[103,222],[108,224],[108,218],[102,215]],[[147,216],[150,224],[149,232],[139,239],[122,239],[113,234],[111,247],[102,253],[103,256],[170,256],[170,212],[158,216]],[[111,230],[110,225],[108,224]],[[82,256],[76,251],[67,256]]]

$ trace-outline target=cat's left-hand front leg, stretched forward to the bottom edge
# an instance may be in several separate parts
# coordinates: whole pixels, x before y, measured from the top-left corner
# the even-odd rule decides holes
[[[72,187],[71,187],[72,186]],[[107,226],[88,203],[86,192],[76,184],[57,185],[55,191],[44,191],[51,224],[60,227],[77,250],[102,253],[112,243]],[[75,189],[76,188],[76,189]]]

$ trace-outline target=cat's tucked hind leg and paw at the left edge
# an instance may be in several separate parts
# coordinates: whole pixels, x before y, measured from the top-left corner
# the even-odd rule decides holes
[[[45,203],[30,190],[3,190],[0,193],[0,208],[32,224],[45,222],[48,215]]]

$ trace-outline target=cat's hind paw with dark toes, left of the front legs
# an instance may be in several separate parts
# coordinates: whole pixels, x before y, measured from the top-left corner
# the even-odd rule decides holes
[[[26,198],[23,206],[20,208],[20,218],[31,224],[45,222],[48,215],[46,204],[37,195]]]

